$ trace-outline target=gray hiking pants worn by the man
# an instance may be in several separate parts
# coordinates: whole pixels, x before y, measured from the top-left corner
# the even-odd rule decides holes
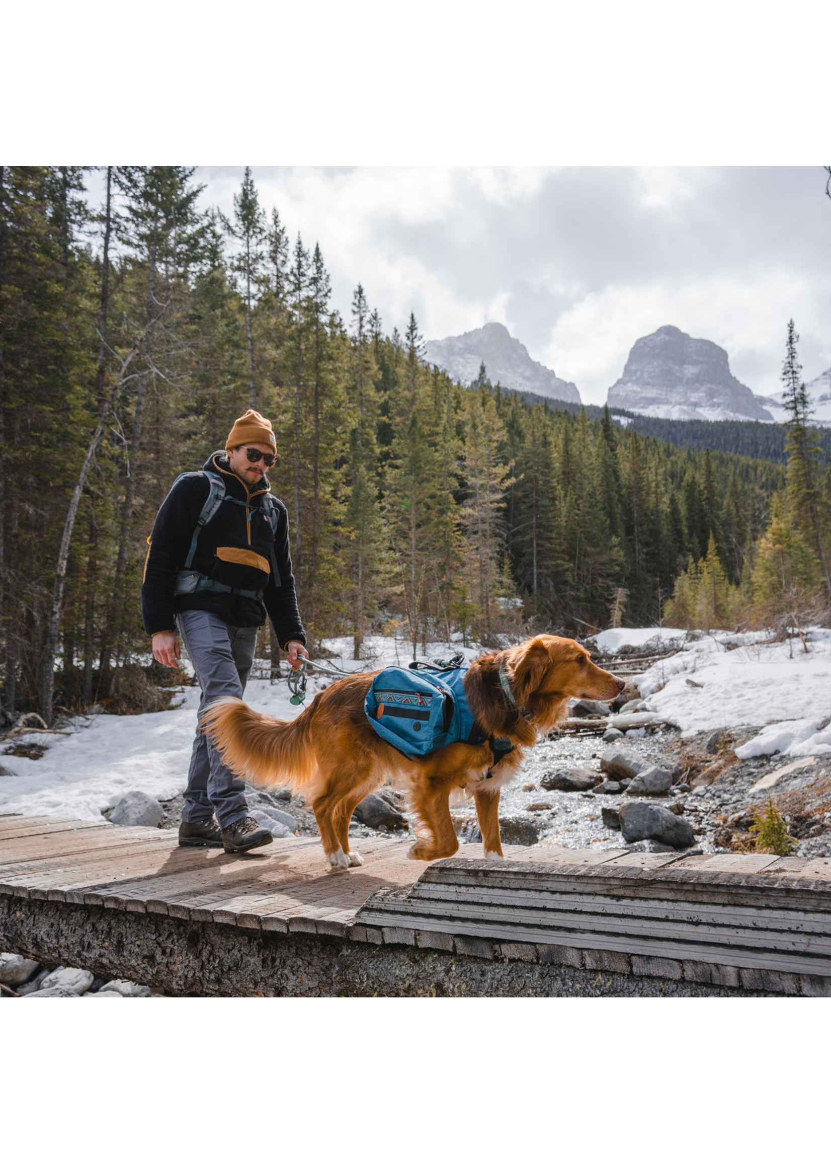
[[[254,661],[256,626],[228,626],[206,610],[184,610],[176,616],[176,625],[201,688],[200,718],[207,704],[223,695],[241,700]],[[214,812],[222,829],[247,816],[246,785],[222,764],[197,725],[182,819],[209,821]]]

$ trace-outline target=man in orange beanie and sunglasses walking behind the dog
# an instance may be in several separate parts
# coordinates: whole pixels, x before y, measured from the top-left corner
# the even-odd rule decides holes
[[[178,631],[201,688],[200,717],[214,700],[242,697],[267,612],[292,668],[308,658],[289,514],[269,496],[265,477],[276,443],[271,421],[249,409],[234,423],[223,453],[173,483],[148,538],[144,630],[165,667],[180,658]],[[270,844],[269,830],[248,815],[244,787],[197,725],[179,844],[221,845],[228,853]]]

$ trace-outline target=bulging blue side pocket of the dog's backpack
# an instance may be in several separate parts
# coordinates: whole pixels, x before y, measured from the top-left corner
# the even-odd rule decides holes
[[[454,700],[439,675],[385,667],[363,709],[378,736],[405,755],[428,755],[450,743]]]

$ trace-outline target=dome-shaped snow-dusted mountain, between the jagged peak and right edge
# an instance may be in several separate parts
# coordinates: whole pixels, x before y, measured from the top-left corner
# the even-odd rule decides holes
[[[724,348],[669,325],[635,340],[606,403],[666,420],[773,420],[732,375]]]

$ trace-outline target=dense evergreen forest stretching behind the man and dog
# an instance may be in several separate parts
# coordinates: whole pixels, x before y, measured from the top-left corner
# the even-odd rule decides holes
[[[681,447],[606,410],[454,383],[249,171],[228,218],[194,170],[0,168],[0,702],[118,704],[145,665],[147,537],[235,417],[274,424],[312,651],[461,634],[748,625],[829,605],[831,478],[787,356],[788,463]],[[787,363],[787,361],[786,361]],[[804,402],[803,402],[804,403]],[[807,405],[805,405],[807,407]],[[675,620],[675,622],[674,622]],[[279,651],[264,629],[272,674]]]

